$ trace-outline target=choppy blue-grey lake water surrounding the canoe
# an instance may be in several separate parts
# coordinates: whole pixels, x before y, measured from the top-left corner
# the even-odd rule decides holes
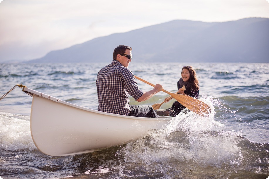
[[[0,96],[16,84],[97,109],[97,72],[104,63],[0,64]],[[191,65],[205,118],[180,113],[165,130],[88,154],[47,156],[31,138],[32,97],[16,87],[0,101],[1,178],[267,178],[269,175],[269,63],[130,63],[134,75],[177,91]],[[143,91],[150,85],[137,80]],[[159,92],[140,104],[161,103]],[[171,107],[173,101],[162,105]],[[130,104],[138,104],[131,98]]]

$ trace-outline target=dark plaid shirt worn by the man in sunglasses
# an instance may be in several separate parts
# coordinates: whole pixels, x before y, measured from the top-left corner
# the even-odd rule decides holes
[[[131,70],[113,60],[97,74],[98,111],[129,115],[129,94],[137,100],[143,95]]]

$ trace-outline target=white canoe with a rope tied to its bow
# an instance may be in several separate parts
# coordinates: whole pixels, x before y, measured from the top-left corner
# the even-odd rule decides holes
[[[141,118],[96,111],[30,88],[31,135],[46,155],[67,156],[124,144],[152,129],[164,129],[171,117]]]

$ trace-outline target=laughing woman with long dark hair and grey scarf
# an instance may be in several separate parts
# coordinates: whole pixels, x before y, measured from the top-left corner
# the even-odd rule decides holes
[[[186,90],[181,90],[182,86],[185,86]],[[181,70],[181,78],[177,82],[177,93],[187,95],[190,97],[199,97],[199,81],[197,79],[196,71],[191,66],[183,66]],[[170,101],[170,97],[165,98],[165,102]],[[175,101],[171,107],[169,116],[176,116],[185,107],[178,101]]]

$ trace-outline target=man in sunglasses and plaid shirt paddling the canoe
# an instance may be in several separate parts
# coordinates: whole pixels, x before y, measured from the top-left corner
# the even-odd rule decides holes
[[[156,118],[158,115],[150,105],[130,105],[129,94],[138,102],[150,99],[160,92],[163,86],[143,92],[139,89],[130,69],[132,48],[119,45],[114,49],[113,61],[103,67],[97,74],[96,86],[98,95],[98,111],[126,116]]]

